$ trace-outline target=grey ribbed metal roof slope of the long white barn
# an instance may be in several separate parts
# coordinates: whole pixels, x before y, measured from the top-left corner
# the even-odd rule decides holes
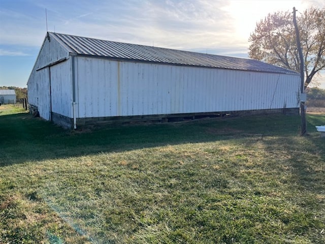
[[[55,40],[61,43],[61,45],[66,47],[70,53],[77,55],[91,55],[111,59],[135,60],[172,65],[298,74],[295,71],[287,70],[249,58],[181,51],[58,33],[48,33],[48,35],[50,38],[53,37]]]

